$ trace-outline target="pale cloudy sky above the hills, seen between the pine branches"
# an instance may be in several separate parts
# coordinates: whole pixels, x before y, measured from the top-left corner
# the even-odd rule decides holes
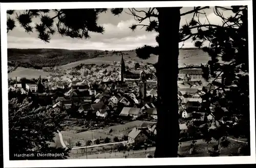
[[[193,9],[192,7],[186,7],[181,9],[181,13]],[[125,11],[128,12],[127,9]],[[221,19],[214,14],[212,8],[204,10],[207,17],[212,24],[221,24]],[[16,11],[22,13],[23,11]],[[54,13],[50,13],[53,16]],[[225,13],[225,15],[230,15]],[[182,16],[181,24],[186,23],[192,18],[192,14]],[[7,16],[9,17],[9,15]],[[11,16],[15,17],[15,14]],[[171,19],[171,18],[170,18]],[[205,21],[205,16],[201,15],[201,22]],[[34,19],[33,22],[38,22],[38,19]],[[144,23],[147,23],[145,21]],[[154,32],[146,32],[144,29],[137,29],[132,32],[129,29],[133,23],[137,23],[134,17],[122,13],[119,16],[113,16],[108,10],[106,13],[102,13],[99,16],[98,23],[105,28],[104,34],[90,33],[90,39],[72,39],[70,37],[61,37],[55,34],[50,43],[45,43],[37,38],[37,34],[27,34],[22,27],[16,22],[16,27],[13,31],[8,33],[8,48],[63,48],[63,49],[99,49],[99,50],[130,50],[143,45],[156,45]],[[171,28],[170,28],[171,29]],[[181,44],[180,44],[181,45]],[[184,43],[184,47],[194,47],[191,40],[187,40]]]

